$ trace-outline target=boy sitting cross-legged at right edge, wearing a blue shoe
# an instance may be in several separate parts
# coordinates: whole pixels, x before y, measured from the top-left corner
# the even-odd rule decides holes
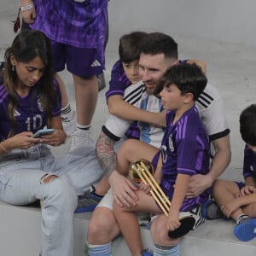
[[[256,236],[255,104],[241,112],[240,133],[246,143],[243,161],[244,183],[218,179],[213,185],[212,195],[224,216],[236,221],[234,235],[241,241],[250,241]]]

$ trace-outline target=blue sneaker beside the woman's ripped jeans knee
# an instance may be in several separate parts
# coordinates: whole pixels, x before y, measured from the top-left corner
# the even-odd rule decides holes
[[[90,186],[90,189],[84,195],[79,195],[78,207],[75,213],[92,212],[101,200],[102,196],[95,194],[95,187]]]

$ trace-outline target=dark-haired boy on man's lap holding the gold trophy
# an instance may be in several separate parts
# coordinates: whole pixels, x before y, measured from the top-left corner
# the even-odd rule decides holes
[[[147,186],[141,186],[141,189],[137,190],[136,206],[119,207],[114,202],[113,212],[134,256],[142,255],[143,252],[140,229],[134,212],[159,214],[154,218],[151,227],[155,243],[154,255],[171,255],[173,252],[177,255],[178,248],[174,245],[177,245],[180,239],[171,240],[167,235],[168,231],[179,227],[180,212],[195,209],[207,201],[210,194],[210,190],[207,189],[196,198],[185,197],[190,176],[205,175],[209,171],[207,131],[195,108],[195,100],[205,89],[207,78],[195,64],[180,64],[167,69],[162,83],[164,89],[160,92],[161,102],[168,112],[161,148],[128,140],[117,154],[117,170],[123,175],[127,175],[127,170],[134,160],[152,161],[155,167],[154,177],[172,201],[168,217],[161,212],[154,198],[148,195]],[[161,252],[158,244],[165,245],[168,249]]]

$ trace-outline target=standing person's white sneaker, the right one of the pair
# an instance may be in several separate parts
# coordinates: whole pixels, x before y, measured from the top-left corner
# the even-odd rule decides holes
[[[80,130],[76,129],[72,136],[70,151],[76,148],[84,147],[88,144],[93,143],[90,137],[90,130]]]

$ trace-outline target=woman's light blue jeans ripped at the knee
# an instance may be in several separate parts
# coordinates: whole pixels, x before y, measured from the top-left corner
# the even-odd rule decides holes
[[[73,217],[77,196],[102,177],[93,146],[54,158],[43,144],[0,156],[0,200],[14,205],[44,201],[41,255],[73,255]],[[76,150],[73,150],[76,151]],[[42,182],[44,175],[57,178]]]

